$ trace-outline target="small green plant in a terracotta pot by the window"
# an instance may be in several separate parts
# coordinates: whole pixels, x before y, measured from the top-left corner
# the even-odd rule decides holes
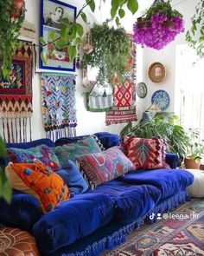
[[[184,159],[187,169],[200,169],[201,158],[204,154],[204,141],[199,141],[199,131],[189,128],[188,132],[188,151]]]

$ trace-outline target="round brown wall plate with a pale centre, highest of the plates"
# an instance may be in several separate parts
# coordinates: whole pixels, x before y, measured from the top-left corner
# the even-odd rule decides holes
[[[166,77],[166,69],[160,62],[154,62],[150,65],[148,75],[152,82],[162,82]]]

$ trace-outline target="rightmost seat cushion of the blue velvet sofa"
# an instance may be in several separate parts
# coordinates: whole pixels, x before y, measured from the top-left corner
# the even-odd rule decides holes
[[[119,177],[120,181],[135,185],[152,185],[160,189],[162,199],[185,189],[194,181],[194,176],[182,169],[137,170]]]

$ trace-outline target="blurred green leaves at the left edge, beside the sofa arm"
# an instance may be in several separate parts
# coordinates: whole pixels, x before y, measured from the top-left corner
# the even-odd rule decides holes
[[[0,155],[3,156],[4,154],[5,154],[5,144],[2,138],[0,137]],[[10,183],[9,181],[7,181],[3,168],[0,167],[0,197],[3,197],[3,199],[9,203],[11,200],[11,195],[12,195],[12,190],[10,187]]]

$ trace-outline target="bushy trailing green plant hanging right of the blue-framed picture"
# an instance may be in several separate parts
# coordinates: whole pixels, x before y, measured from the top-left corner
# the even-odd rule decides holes
[[[131,59],[130,37],[124,29],[110,28],[107,22],[93,25],[91,34],[93,50],[84,54],[81,68],[99,67],[97,80],[100,84],[112,83],[115,74],[121,81],[127,72],[128,59]]]

